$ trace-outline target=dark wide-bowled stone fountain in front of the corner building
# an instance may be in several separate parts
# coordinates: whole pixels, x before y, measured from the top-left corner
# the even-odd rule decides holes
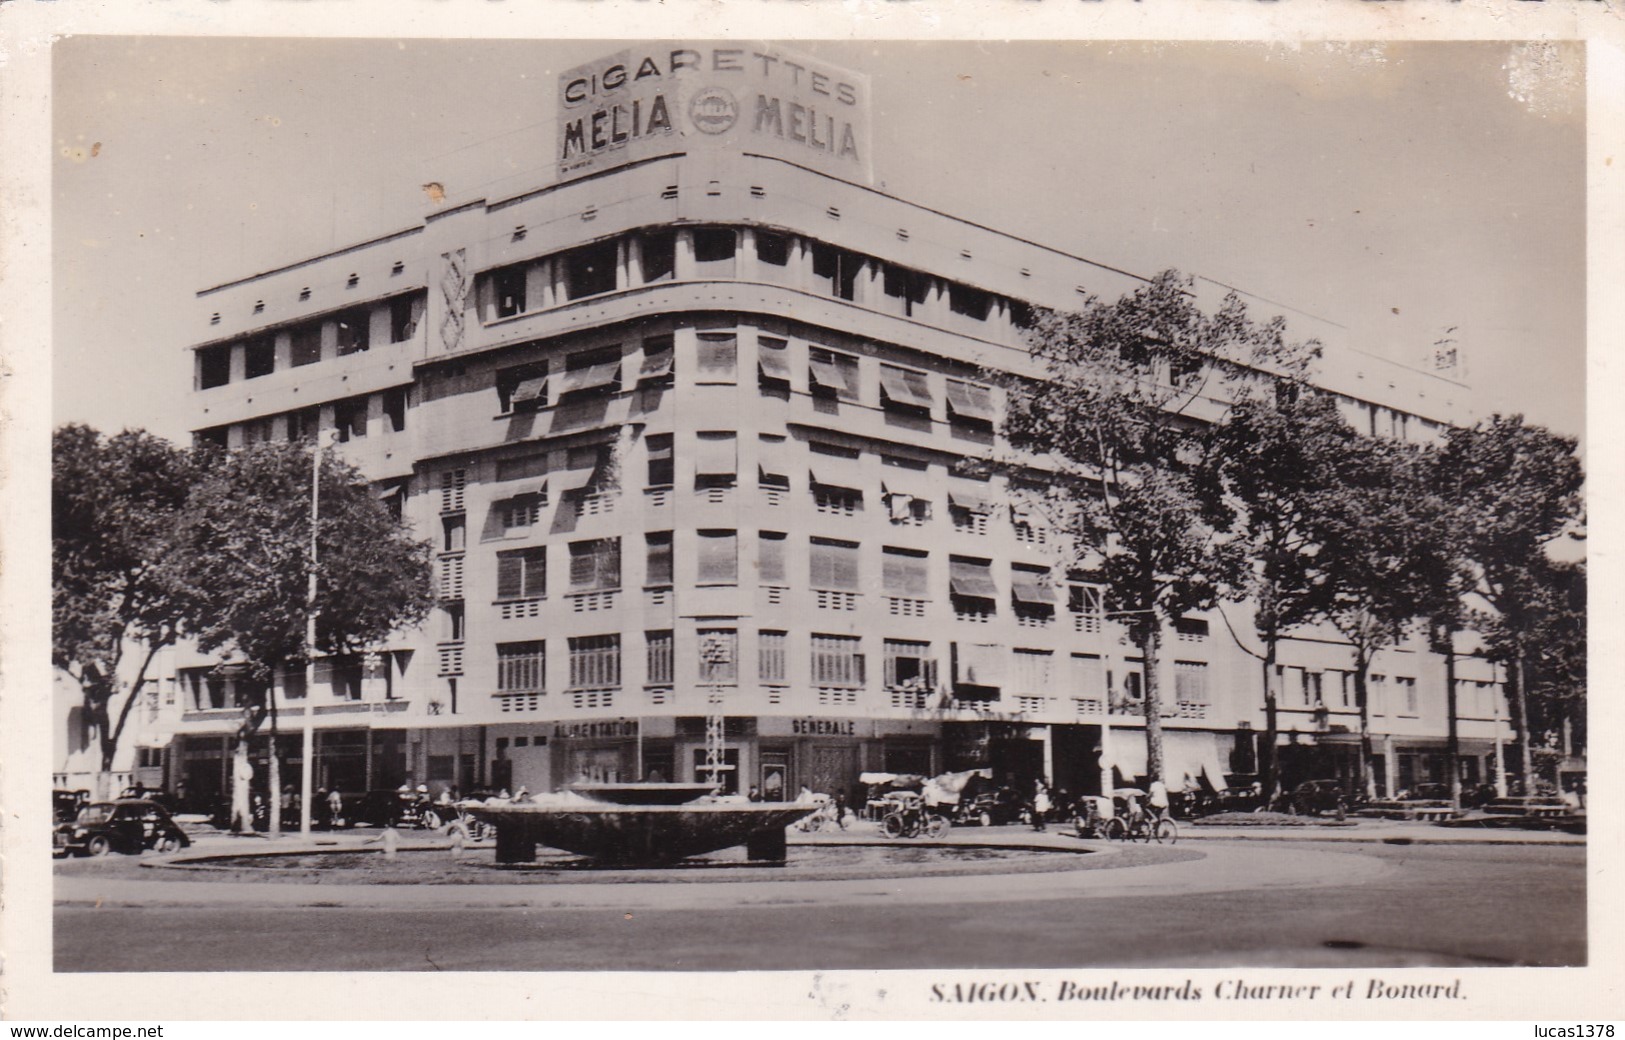
[[[497,829],[497,863],[533,863],[548,845],[613,866],[670,866],[734,845],[751,860],[783,863],[785,827],[817,809],[710,791],[708,783],[583,783],[536,803],[466,808]]]

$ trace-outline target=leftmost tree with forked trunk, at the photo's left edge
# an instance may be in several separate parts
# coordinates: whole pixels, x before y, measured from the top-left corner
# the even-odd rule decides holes
[[[104,437],[72,424],[52,437],[50,660],[78,682],[98,734],[99,798],[112,795],[114,756],[146,671],[179,637],[190,604],[174,535],[195,474],[190,452],[145,431]],[[125,689],[119,671],[132,645],[141,661]]]

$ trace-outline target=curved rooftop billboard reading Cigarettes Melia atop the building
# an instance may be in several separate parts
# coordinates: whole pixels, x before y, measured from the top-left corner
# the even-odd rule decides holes
[[[673,146],[759,151],[868,184],[868,76],[746,44],[645,44],[559,76],[561,180]]]

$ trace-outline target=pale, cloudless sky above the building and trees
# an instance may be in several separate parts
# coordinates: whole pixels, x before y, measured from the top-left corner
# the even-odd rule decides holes
[[[182,439],[197,289],[551,184],[604,41],[73,37],[54,57],[54,418]],[[871,80],[876,187],[1180,268],[1584,432],[1584,76],[1566,44],[791,44]]]

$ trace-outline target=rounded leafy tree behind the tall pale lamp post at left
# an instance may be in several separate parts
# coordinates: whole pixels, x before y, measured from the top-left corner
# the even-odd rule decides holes
[[[310,582],[310,448],[262,444],[221,453],[187,502],[180,540],[200,590],[193,635],[205,653],[229,648],[252,679],[234,777],[270,720],[273,821],[280,819],[278,673],[302,666]],[[323,457],[317,523],[315,653],[356,653],[419,622],[432,603],[429,544],[379,502],[366,478]],[[247,790],[234,780],[234,814]],[[276,824],[273,824],[276,827]]]

